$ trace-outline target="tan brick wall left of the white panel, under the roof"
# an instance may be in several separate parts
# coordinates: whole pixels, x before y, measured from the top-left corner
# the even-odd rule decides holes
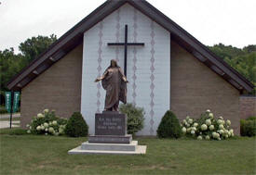
[[[82,55],[81,44],[21,90],[21,127],[45,108],[64,118],[80,111]]]

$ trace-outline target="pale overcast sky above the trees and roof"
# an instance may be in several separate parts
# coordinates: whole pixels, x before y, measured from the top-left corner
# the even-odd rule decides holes
[[[0,50],[27,38],[61,37],[104,0],[0,0]],[[202,44],[256,44],[256,0],[148,0]]]

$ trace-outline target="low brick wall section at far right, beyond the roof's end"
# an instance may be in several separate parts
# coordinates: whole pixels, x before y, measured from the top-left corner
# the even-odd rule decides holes
[[[240,119],[256,117],[256,97],[240,96]]]

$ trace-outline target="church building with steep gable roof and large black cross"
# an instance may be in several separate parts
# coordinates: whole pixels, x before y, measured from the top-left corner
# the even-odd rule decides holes
[[[94,80],[111,59],[127,74],[128,103],[144,108],[138,135],[156,135],[168,109],[180,120],[210,109],[239,133],[239,96],[253,85],[145,0],[107,0],[9,81],[21,92],[21,127],[49,108],[81,112],[93,134],[105,98]]]

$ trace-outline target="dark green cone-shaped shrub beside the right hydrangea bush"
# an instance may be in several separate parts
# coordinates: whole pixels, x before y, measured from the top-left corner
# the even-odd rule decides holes
[[[179,120],[173,112],[168,110],[157,128],[157,136],[160,138],[179,138],[182,129]]]

